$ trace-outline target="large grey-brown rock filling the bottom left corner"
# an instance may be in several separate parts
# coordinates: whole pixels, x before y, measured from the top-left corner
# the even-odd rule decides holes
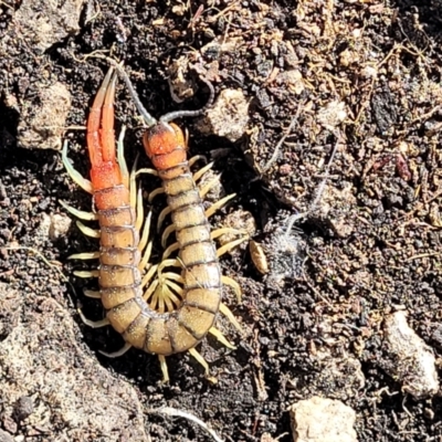
[[[63,441],[66,434],[70,441],[150,440],[134,387],[113,377],[78,345],[70,312],[50,296],[24,297],[8,287],[0,284],[0,322],[17,309],[19,320],[0,340],[0,372],[7,373],[0,376],[2,429],[15,434],[18,398],[38,392],[39,403],[23,429],[25,434],[38,430],[48,436],[27,435],[27,441]],[[29,412],[30,403],[25,406]]]

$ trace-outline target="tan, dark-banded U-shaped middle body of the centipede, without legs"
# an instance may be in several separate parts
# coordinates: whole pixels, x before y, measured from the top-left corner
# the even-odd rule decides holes
[[[94,193],[94,199],[101,225],[98,282],[107,318],[128,344],[168,356],[194,347],[212,327],[220,304],[221,273],[188,164],[181,164],[179,170],[160,171],[160,176],[183,266],[183,302],[173,312],[159,314],[143,298],[139,234],[129,191],[119,187],[103,189]],[[101,209],[102,199],[105,209]],[[109,201],[119,202],[112,207]]]

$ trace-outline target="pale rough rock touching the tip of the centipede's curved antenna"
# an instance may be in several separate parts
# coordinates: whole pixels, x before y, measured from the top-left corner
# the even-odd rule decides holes
[[[249,103],[241,90],[224,90],[214,105],[198,123],[202,134],[218,135],[234,143],[239,140],[249,123]]]

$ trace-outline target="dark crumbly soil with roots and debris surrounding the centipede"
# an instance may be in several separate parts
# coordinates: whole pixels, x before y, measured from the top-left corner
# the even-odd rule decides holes
[[[442,441],[439,392],[410,393],[383,329],[406,312],[440,366],[442,2],[59,3],[0,1],[0,439],[210,439],[148,412],[167,406],[225,441],[270,433],[285,442],[287,408],[317,394],[356,411],[359,441]],[[203,106],[199,76],[217,96],[240,91],[248,105],[238,136],[206,134],[201,117],[179,122],[191,154],[213,157],[236,193],[212,224],[250,213],[270,266],[262,275],[245,248],[221,260],[243,291],[241,304],[230,292],[225,303],[244,334],[221,319],[238,349],[210,337],[199,347],[217,383],[189,355],[168,358],[169,385],[155,356],[104,357],[119,336],[88,328],[76,312],[103,315],[82,293],[94,282],[73,276],[87,265],[67,259],[96,241],[54,224],[72,218],[59,200],[91,209],[60,149],[69,139],[87,176],[85,118],[107,69],[94,53],[124,60],[157,117]],[[234,115],[235,103],[227,106]],[[119,84],[116,126],[127,125],[129,165],[143,149],[136,116]],[[148,165],[143,155],[139,164]]]

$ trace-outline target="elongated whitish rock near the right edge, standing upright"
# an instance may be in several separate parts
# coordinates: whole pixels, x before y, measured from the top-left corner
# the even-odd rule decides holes
[[[389,315],[383,323],[383,333],[385,351],[390,360],[382,368],[415,399],[434,396],[439,390],[434,355],[407,324],[406,313]]]

